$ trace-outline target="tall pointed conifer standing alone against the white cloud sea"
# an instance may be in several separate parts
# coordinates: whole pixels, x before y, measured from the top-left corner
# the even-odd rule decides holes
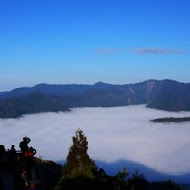
[[[78,129],[73,137],[73,144],[69,148],[66,164],[62,170],[62,177],[55,188],[56,190],[84,189],[84,185],[86,187],[94,186],[97,168],[87,151],[87,138],[83,131]]]

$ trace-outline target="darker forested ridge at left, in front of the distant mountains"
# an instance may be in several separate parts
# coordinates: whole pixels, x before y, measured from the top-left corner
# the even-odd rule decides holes
[[[0,117],[17,118],[23,114],[69,111],[56,96],[30,94],[22,98],[0,100]]]

